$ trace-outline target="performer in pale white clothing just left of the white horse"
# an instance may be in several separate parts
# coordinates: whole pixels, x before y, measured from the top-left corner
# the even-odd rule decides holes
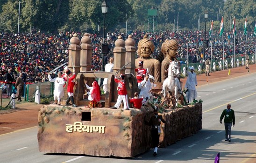
[[[143,77],[143,81],[139,84],[139,89],[141,89],[139,98],[145,97],[145,99],[142,101],[143,106],[147,104],[148,99],[151,96],[151,88],[152,84],[149,80],[149,74],[146,74],[145,77]]]

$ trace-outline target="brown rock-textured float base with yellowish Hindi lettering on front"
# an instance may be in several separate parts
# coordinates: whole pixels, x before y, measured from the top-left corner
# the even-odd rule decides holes
[[[150,148],[151,107],[142,109],[81,109],[43,106],[38,114],[39,151],[91,156],[132,157]],[[191,136],[202,128],[202,104],[162,114],[160,147]],[[104,126],[104,127],[103,127]]]

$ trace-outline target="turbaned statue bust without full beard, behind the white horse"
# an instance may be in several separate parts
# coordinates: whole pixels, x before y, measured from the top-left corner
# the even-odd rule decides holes
[[[177,54],[178,54],[178,43],[175,40],[165,40],[162,44],[161,52],[164,54],[164,60],[162,61],[161,65],[161,81],[167,78],[168,73],[166,70],[168,69],[171,61],[177,61]],[[180,65],[179,61],[178,65]]]

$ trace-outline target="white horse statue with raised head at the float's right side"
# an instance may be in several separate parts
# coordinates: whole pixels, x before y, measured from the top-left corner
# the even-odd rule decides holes
[[[180,75],[179,66],[177,62],[172,61],[168,68],[168,77],[164,80],[163,91],[164,98],[166,98],[167,91],[170,91],[175,97],[176,104],[178,103],[178,98],[182,94],[182,89],[180,87],[179,80],[177,76]]]

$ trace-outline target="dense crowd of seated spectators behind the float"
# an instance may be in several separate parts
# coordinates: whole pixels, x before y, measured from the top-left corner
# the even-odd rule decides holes
[[[57,35],[44,34],[40,31],[33,30],[31,33],[14,34],[0,33],[0,81],[6,80],[5,74],[8,69],[12,69],[14,79],[18,77],[18,73],[26,74],[24,82],[44,82],[47,80],[47,73],[59,65],[68,61],[68,46],[70,39],[75,32],[60,32]],[[76,32],[79,39],[83,33]],[[105,65],[110,56],[113,56],[114,41],[121,35],[124,40],[127,34],[107,33],[106,42],[109,46],[109,54],[105,56]],[[136,31],[131,33],[135,39],[135,46],[144,37],[145,32]],[[92,71],[101,70],[101,44],[102,37],[100,34],[90,34],[92,39]],[[208,37],[208,35],[207,35]],[[154,42],[156,48],[152,54],[156,58],[160,52],[160,45],[165,39],[174,39],[179,44],[178,58],[189,63],[201,62],[203,58],[202,42],[204,40],[203,31],[178,31],[178,32],[154,32],[148,33],[148,38]],[[238,31],[236,38],[238,39],[235,47],[237,55],[245,54],[245,35],[242,31]],[[247,54],[255,54],[255,36],[253,33],[247,34]],[[222,37],[217,33],[213,33],[213,59],[223,59]],[[206,48],[205,58],[211,54],[211,44]],[[137,47],[136,47],[137,48]],[[233,57],[234,54],[234,35],[232,32],[224,33],[224,53],[225,58]],[[188,55],[187,55],[188,54]],[[57,71],[62,71],[59,68]]]

